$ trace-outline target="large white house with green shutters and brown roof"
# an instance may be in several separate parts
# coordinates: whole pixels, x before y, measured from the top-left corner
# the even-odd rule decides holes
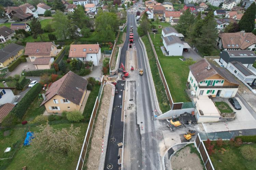
[[[189,66],[187,84],[196,96],[234,97],[239,82],[228,70],[217,67],[206,59]]]

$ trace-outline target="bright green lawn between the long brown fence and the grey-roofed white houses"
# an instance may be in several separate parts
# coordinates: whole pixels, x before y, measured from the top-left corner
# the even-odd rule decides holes
[[[160,29],[161,30],[161,29]],[[185,92],[186,82],[189,73],[189,64],[194,62],[184,62],[180,58],[182,56],[164,56],[160,47],[163,46],[161,32],[158,34],[151,34],[152,42],[158,56],[158,60],[165,75],[172,100],[175,103],[190,102],[190,98]]]

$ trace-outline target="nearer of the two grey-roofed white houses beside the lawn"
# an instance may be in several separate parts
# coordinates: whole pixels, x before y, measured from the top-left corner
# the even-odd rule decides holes
[[[183,43],[181,39],[175,35],[163,37],[163,45],[169,56],[181,56],[183,52]]]

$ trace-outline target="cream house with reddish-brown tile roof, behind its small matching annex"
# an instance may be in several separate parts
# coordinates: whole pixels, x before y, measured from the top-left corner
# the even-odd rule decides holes
[[[27,43],[24,55],[28,55],[31,62],[39,57],[52,57],[58,55],[57,46],[52,42]]]

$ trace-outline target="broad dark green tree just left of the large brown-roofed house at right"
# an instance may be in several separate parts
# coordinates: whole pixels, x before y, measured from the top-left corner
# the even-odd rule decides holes
[[[196,38],[198,50],[203,55],[210,55],[214,49],[217,38],[216,21],[209,20],[207,25],[202,27],[202,34]]]

